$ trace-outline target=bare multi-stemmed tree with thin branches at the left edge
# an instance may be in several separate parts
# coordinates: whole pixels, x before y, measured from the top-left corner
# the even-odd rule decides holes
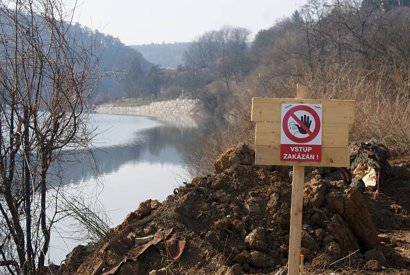
[[[87,148],[98,78],[62,1],[0,2],[0,265],[42,273],[58,207],[50,167]]]

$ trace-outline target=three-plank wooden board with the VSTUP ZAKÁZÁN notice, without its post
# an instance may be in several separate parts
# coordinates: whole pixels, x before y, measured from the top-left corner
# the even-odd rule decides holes
[[[289,111],[292,108],[298,110]],[[355,121],[354,101],[254,97],[251,120],[256,122],[256,164],[350,166],[348,129]],[[300,154],[291,145],[313,153]]]

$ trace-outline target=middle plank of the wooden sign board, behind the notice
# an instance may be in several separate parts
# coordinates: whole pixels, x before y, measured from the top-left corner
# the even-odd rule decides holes
[[[347,148],[348,143],[348,124],[322,124],[322,147]],[[255,128],[255,145],[279,146],[280,123],[257,122]]]

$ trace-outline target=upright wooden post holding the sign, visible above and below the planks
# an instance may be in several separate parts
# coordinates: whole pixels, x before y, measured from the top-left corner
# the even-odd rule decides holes
[[[309,86],[297,85],[297,99],[307,99]],[[298,275],[300,264],[300,241],[302,238],[302,207],[303,207],[304,166],[293,166],[291,231],[289,233],[289,264],[288,274]]]

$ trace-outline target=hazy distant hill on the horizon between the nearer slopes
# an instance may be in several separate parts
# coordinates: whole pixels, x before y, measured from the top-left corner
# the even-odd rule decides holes
[[[182,56],[190,43],[162,43],[162,44],[144,44],[131,45],[133,49],[138,50],[142,55],[153,64],[160,64],[161,67],[177,68],[183,64]]]

